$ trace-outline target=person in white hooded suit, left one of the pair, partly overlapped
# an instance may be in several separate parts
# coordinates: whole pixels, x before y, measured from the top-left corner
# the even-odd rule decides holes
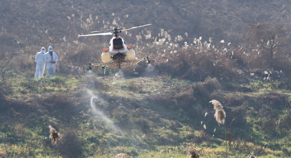
[[[34,78],[42,77],[43,73],[45,72],[45,61],[43,59],[44,56],[45,48],[42,47],[41,51],[35,55],[36,68]]]

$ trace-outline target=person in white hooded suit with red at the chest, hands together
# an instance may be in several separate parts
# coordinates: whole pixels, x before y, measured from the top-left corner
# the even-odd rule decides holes
[[[52,51],[52,46],[49,46],[49,51],[45,53],[44,60],[46,62],[46,72],[49,76],[54,76],[55,63],[58,61],[58,56]]]

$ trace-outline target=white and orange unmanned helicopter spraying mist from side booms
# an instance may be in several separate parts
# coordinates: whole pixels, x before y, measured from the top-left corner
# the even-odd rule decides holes
[[[131,29],[140,28],[143,26],[148,26],[152,24],[131,27],[131,28],[114,28],[110,30],[102,30],[102,31],[110,31],[105,33],[97,33],[97,34],[89,34],[89,35],[79,35],[79,36],[94,36],[94,35],[113,35],[111,40],[109,41],[109,49],[103,48],[101,54],[101,60],[103,63],[89,63],[89,69],[91,70],[91,65],[93,66],[102,66],[104,69],[104,74],[106,74],[106,67],[115,67],[125,65],[132,65],[133,70],[135,71],[135,64],[138,64],[140,61],[145,59],[149,61],[149,58],[140,58],[135,60],[135,51],[133,50],[132,45],[126,46],[125,41],[118,35],[118,33],[125,32]],[[100,32],[100,31],[93,31]],[[93,33],[91,32],[91,33]],[[134,62],[135,60],[135,62]]]

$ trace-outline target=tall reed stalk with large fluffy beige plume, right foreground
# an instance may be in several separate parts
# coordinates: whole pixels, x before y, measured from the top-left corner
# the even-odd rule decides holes
[[[219,103],[219,101],[213,99],[209,103],[212,103],[214,106],[215,114],[214,117],[216,119],[216,122],[219,124],[224,124],[224,133],[225,133],[225,144],[226,144],[226,158],[227,158],[227,137],[226,137],[226,125],[225,125],[225,117],[226,113],[223,110],[223,106]]]

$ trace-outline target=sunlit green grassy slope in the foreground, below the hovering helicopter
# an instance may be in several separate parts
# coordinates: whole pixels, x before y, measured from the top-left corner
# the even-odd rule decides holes
[[[222,91],[216,78],[191,82],[90,73],[12,78],[1,84],[0,154],[57,156],[48,138],[52,125],[63,137],[62,157],[187,157],[189,145],[202,157],[224,157],[224,127],[215,121],[209,103],[216,99],[232,133],[229,157],[251,152],[288,157],[290,91],[278,88],[280,84],[256,80]]]

